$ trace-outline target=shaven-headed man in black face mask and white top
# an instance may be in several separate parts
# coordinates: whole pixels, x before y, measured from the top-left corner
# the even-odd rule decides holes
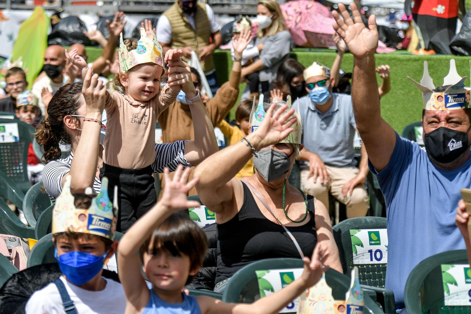
[[[42,102],[41,92],[43,88],[46,88],[54,94],[64,84],[65,49],[59,45],[46,48],[42,69],[46,75],[33,84],[32,93],[38,97],[38,105],[44,115],[46,108]]]

